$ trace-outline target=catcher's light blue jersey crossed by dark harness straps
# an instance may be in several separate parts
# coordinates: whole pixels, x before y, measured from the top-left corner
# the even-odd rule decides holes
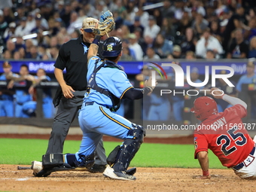
[[[93,56],[88,61],[88,83],[90,80],[90,76],[93,74],[95,65],[97,65],[98,67],[102,64],[102,60],[99,60],[99,62],[96,63],[98,59],[98,56]],[[109,67],[102,67],[102,69],[100,69],[99,72],[96,73],[96,84],[99,87],[110,91],[114,94],[114,96],[117,96],[120,99],[122,99],[123,94],[126,92],[126,90],[129,90],[133,87],[133,85],[130,84],[130,81],[128,80],[125,72],[121,71],[120,69]],[[93,89],[90,89],[90,93],[85,93],[84,102],[96,102],[99,105],[108,107],[112,106],[111,99],[108,96],[105,96],[104,94],[99,93]]]

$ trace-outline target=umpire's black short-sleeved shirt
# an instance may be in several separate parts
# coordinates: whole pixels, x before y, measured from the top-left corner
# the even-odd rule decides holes
[[[87,88],[87,53],[90,44],[83,42],[83,35],[62,44],[59,56],[54,67],[64,70],[65,81],[73,90],[86,90]]]

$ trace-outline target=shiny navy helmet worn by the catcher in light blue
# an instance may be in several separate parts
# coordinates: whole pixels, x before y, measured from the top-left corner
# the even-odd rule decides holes
[[[114,57],[118,56],[122,51],[122,41],[117,37],[107,38],[103,42],[102,56],[104,57]]]

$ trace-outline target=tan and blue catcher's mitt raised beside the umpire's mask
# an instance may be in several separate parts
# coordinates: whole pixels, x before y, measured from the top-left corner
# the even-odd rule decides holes
[[[98,26],[93,29],[95,35],[105,35],[114,29],[114,17],[110,11],[106,11],[99,19]]]

